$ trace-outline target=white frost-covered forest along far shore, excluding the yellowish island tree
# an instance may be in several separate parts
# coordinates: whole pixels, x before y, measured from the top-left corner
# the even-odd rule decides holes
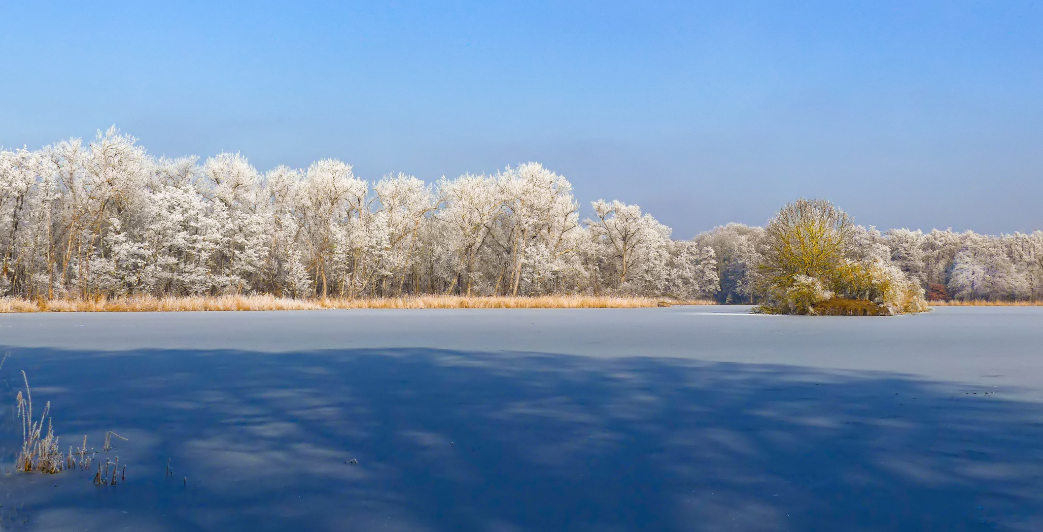
[[[756,298],[761,227],[673,240],[637,205],[591,211],[580,220],[569,183],[536,163],[370,183],[336,160],[261,173],[238,153],[154,158],[111,128],[0,151],[0,295]],[[1043,296],[1043,232],[855,229],[860,257],[929,299]]]

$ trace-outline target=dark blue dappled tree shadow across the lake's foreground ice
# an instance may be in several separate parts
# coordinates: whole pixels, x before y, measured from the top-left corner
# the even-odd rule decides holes
[[[25,369],[63,446],[128,438],[110,453],[121,485],[0,479],[0,512],[28,530],[1043,526],[1043,408],[953,383],[433,349],[2,350],[7,393]]]

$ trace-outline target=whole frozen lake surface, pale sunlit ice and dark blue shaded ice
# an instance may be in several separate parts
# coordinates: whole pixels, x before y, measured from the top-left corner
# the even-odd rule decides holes
[[[1043,308],[746,310],[0,314],[0,530],[1043,530]]]

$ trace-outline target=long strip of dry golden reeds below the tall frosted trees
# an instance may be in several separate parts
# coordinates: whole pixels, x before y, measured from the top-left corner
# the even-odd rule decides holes
[[[538,297],[418,295],[372,299],[292,299],[272,295],[126,297],[95,299],[0,298],[4,312],[186,312],[318,309],[629,309],[670,305],[714,305],[710,300],[675,301],[651,297],[544,295]]]

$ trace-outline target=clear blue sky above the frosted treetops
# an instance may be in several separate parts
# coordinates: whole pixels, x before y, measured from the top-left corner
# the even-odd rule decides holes
[[[864,224],[1043,228],[1043,3],[13,2],[0,145],[365,178],[527,161],[676,238],[798,196]]]

